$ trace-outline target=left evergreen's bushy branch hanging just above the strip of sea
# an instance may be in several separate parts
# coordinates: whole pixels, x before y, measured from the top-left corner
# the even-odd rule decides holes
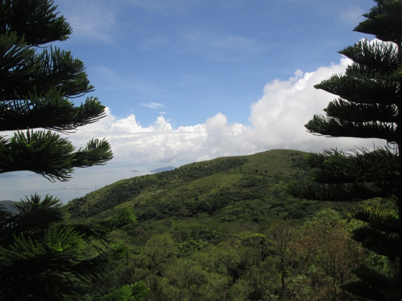
[[[0,173],[28,170],[64,182],[76,167],[104,165],[113,158],[106,140],[92,139],[73,151],[70,141],[50,131],[18,131],[11,139],[0,137]]]

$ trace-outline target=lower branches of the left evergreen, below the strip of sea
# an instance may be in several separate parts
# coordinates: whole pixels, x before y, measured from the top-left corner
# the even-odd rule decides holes
[[[15,207],[15,215],[0,211],[2,298],[86,299],[127,252],[124,245],[105,243],[111,231],[135,220],[130,209],[113,219],[71,224],[66,207],[50,196],[41,201],[34,195]]]

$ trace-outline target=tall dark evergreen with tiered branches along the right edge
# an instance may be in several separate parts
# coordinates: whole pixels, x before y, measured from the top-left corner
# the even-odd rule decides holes
[[[315,115],[305,127],[330,137],[380,138],[387,145],[369,152],[337,149],[312,153],[306,159],[314,168],[311,180],[292,183],[290,194],[311,200],[358,201],[375,197],[394,200],[398,212],[364,210],[356,215],[365,226],[354,239],[376,254],[387,256],[398,272],[384,275],[368,266],[354,270],[357,281],[344,286],[373,300],[402,300],[402,0],[374,0],[354,31],[375,35],[340,51],[353,63],[344,75],[333,75],[316,85],[339,98]]]

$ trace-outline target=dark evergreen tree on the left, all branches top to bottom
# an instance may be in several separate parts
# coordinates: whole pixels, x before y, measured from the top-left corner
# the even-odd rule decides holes
[[[0,131],[16,131],[0,136],[0,173],[27,170],[53,182],[67,181],[74,168],[112,159],[106,140],[92,139],[75,150],[55,133],[105,116],[94,97],[79,106],[70,101],[93,91],[81,61],[57,48],[37,53],[39,46],[71,34],[55,9],[49,0],[0,1]],[[16,208],[16,215],[0,208],[2,300],[90,299],[93,286],[103,283],[127,252],[122,245],[107,245],[108,234],[135,220],[125,209],[106,221],[72,225],[60,201],[50,196],[43,201],[31,196]],[[146,290],[141,283],[125,285],[95,299],[137,300]]]

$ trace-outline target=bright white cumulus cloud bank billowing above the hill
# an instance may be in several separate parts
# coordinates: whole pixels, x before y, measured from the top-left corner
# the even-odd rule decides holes
[[[385,142],[378,139],[315,136],[303,126],[314,114],[322,114],[328,102],[336,98],[316,90],[314,85],[332,74],[343,73],[350,62],[342,58],[339,64],[314,72],[297,70],[287,80],[268,83],[264,95],[251,104],[252,126],[230,123],[223,113],[217,113],[203,124],[178,128],[160,115],[153,124],[142,127],[135,115],[118,119],[108,109],[106,118],[79,128],[69,138],[76,145],[84,145],[92,137],[105,137],[111,142],[117,161],[176,165],[274,148],[321,152],[334,147],[349,150],[355,145],[370,149],[373,142],[383,145]]]

